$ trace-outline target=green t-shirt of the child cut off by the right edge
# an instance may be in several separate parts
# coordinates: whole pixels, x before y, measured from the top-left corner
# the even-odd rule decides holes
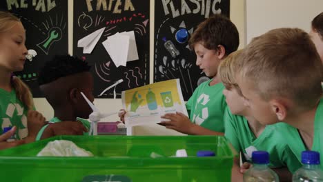
[[[312,150],[320,152],[321,170],[323,170],[323,98],[320,100],[315,112],[314,139]]]

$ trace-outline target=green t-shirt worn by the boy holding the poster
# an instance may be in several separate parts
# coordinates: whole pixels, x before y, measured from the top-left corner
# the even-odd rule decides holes
[[[212,80],[199,85],[186,103],[186,109],[193,123],[213,130],[224,132],[224,110],[226,99],[222,93],[224,85],[217,83],[210,86]]]

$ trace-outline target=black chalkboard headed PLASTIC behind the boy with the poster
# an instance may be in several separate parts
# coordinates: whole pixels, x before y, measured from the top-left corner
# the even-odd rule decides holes
[[[229,0],[155,0],[154,81],[180,79],[184,100],[188,100],[199,83],[209,78],[195,64],[195,53],[187,41],[177,41],[175,34],[185,29],[188,38],[197,25],[213,14],[229,17]],[[179,50],[175,58],[164,48],[163,38]]]

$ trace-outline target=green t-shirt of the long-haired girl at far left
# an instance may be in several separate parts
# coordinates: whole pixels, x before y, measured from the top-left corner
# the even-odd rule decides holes
[[[28,135],[27,129],[28,110],[23,103],[17,98],[14,89],[11,92],[0,88],[0,134],[3,128],[16,126],[16,139],[23,139]]]

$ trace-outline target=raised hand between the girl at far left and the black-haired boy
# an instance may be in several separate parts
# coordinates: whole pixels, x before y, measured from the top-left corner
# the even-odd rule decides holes
[[[46,119],[40,112],[35,110],[28,111],[27,115],[27,125],[28,125],[28,136],[26,137],[26,143],[30,143],[35,141],[36,136],[43,127],[46,125]]]

